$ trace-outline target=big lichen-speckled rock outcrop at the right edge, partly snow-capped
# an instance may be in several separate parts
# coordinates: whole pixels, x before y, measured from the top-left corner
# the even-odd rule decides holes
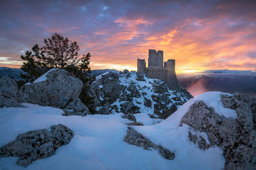
[[[256,131],[253,117],[256,98],[236,93],[222,96],[222,103],[226,108],[236,110],[237,118],[220,116],[203,101],[197,101],[189,108],[181,123],[207,134],[209,145],[205,139],[189,134],[191,141],[198,143],[200,148],[216,145],[223,149],[225,169],[255,169]]]

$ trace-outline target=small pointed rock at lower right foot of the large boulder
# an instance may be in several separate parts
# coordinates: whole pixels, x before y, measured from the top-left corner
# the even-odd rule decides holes
[[[68,106],[63,110],[65,116],[79,115],[85,117],[90,114],[88,108],[81,102],[81,99],[73,99],[72,102],[68,103]]]

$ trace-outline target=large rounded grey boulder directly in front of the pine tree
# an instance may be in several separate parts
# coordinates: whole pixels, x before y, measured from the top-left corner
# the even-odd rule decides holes
[[[70,99],[79,96],[83,87],[81,80],[64,69],[54,69],[46,77],[45,81],[22,86],[20,102],[63,108]]]

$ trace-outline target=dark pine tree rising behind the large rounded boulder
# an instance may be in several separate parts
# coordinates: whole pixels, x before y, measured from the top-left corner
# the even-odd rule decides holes
[[[28,51],[26,55],[20,56],[22,60],[25,60],[21,67],[25,74],[20,74],[25,81],[19,81],[19,87],[26,82],[35,81],[51,68],[65,69],[83,81],[83,89],[79,96],[81,101],[86,105],[92,103],[93,98],[88,96],[88,88],[95,80],[95,77],[90,74],[91,55],[87,53],[79,57],[79,49],[76,41],[70,41],[58,33],[52,34],[51,38],[44,39],[42,48],[35,45],[32,52]]]

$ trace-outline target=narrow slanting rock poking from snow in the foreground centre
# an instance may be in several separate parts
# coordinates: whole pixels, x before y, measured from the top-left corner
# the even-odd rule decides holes
[[[150,148],[158,150],[161,156],[165,159],[173,160],[175,157],[175,154],[170,152],[170,150],[152,143],[152,141],[147,139],[141,133],[135,131],[132,127],[127,127],[127,134],[124,137],[124,141],[131,145],[143,147],[145,150],[150,150]]]

